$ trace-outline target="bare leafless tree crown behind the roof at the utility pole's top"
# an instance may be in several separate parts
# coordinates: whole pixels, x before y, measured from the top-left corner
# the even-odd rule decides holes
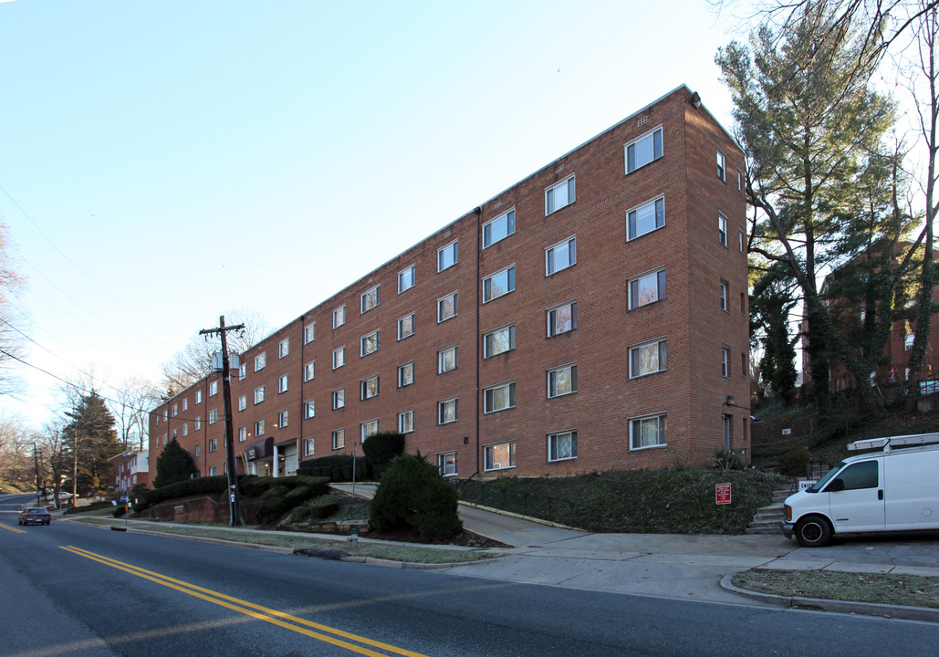
[[[239,308],[223,313],[226,324],[243,324],[244,330],[228,337],[228,350],[241,354],[270,334],[267,320],[257,311]],[[168,398],[185,390],[211,372],[212,354],[219,350],[217,341],[207,340],[193,331],[192,340],[172,359],[162,365],[162,394]]]

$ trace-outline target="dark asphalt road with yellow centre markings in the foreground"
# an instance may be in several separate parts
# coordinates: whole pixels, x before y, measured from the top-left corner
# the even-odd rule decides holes
[[[0,497],[6,657],[915,657],[939,645],[939,626],[897,619],[481,581],[58,521],[18,527],[15,506]]]

